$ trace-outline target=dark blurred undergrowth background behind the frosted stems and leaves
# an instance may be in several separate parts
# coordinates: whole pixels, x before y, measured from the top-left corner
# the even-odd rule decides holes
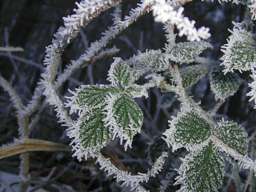
[[[80,2],[80,1],[78,1]],[[40,74],[44,71],[42,65],[45,57],[45,47],[51,44],[53,34],[63,25],[63,16],[73,13],[76,8],[72,0],[1,0],[0,1],[0,47],[13,46],[22,47],[24,52],[6,53],[0,52],[0,73],[5,77],[23,102],[27,104],[36,87]],[[123,1],[122,16],[129,14],[131,8],[135,8],[139,1]],[[227,29],[232,29],[232,20],[242,22],[246,9],[243,5],[233,3],[201,2],[194,1],[184,6],[184,15],[190,20],[196,20],[196,27],[209,27],[211,37],[207,40],[214,46],[214,50],[206,50],[200,56],[212,59],[219,59],[222,56],[221,46],[226,44],[226,39],[230,35]],[[59,73],[65,69],[71,60],[77,59],[90,46],[91,42],[101,37],[101,33],[112,25],[113,9],[103,12],[95,18],[74,41],[65,49],[62,55]],[[163,25],[154,22],[152,13],[142,16],[135,24],[125,29],[108,48],[114,45],[120,49],[115,55],[123,59],[130,58],[146,49],[161,49],[166,42]],[[177,31],[176,31],[177,32]],[[185,41],[185,37],[177,37],[177,42]],[[23,60],[26,59],[26,60]],[[113,58],[101,59],[88,68],[78,70],[72,78],[67,81],[59,90],[59,95],[65,101],[64,96],[70,95],[68,89],[74,90],[83,84],[108,83],[106,77]],[[186,66],[186,65],[183,65]],[[218,111],[217,117],[224,117],[226,120],[234,120],[245,127],[249,136],[255,132],[255,110],[253,111],[253,101],[248,102],[246,93],[249,92],[247,83],[250,81],[249,73],[239,74],[244,83],[234,96],[226,99],[225,103]],[[209,78],[202,78],[196,85],[191,87],[189,94],[194,95],[198,102],[201,100],[202,106],[210,110],[215,105],[214,94],[209,86]],[[142,136],[137,135],[134,139],[134,146],[127,153],[123,153],[123,147],[118,145],[113,152],[111,147],[105,147],[103,154],[115,153],[118,165],[124,164],[133,173],[145,173],[147,168],[146,142],[155,135],[160,135],[167,128],[167,120],[171,115],[175,115],[179,109],[177,101],[170,108],[161,108],[158,105],[158,98],[163,94],[158,89],[152,89],[150,98],[145,100],[137,99],[144,113],[144,125]],[[0,89],[0,144],[7,144],[18,137],[17,120],[15,110],[12,107],[9,96],[3,89]],[[142,138],[143,137],[143,138]],[[69,144],[66,137],[65,127],[57,123],[57,118],[52,106],[48,106],[41,114],[40,120],[31,133],[31,138],[44,139],[59,143]],[[148,139],[148,140],[147,140]],[[112,146],[112,145],[111,145]],[[104,174],[94,165],[94,160],[78,163],[76,159],[67,153],[33,152],[31,157],[32,187],[41,182],[40,178],[49,175],[54,168],[52,178],[56,178],[49,184],[42,186],[48,191],[120,191],[114,179],[106,179]],[[137,159],[137,160],[136,160]],[[139,160],[138,160],[139,159]],[[166,166],[171,164],[169,160]],[[13,156],[0,160],[0,171],[15,175],[19,173],[19,158]],[[178,168],[178,167],[177,167]],[[159,180],[168,172],[165,167],[159,177],[152,179],[145,187],[155,191],[159,186]],[[59,174],[61,173],[61,174]],[[59,175],[58,175],[59,174]],[[243,178],[243,174],[241,175]],[[63,185],[66,184],[66,185]],[[15,185],[15,183],[13,184]],[[60,189],[58,189],[59,186]],[[63,187],[64,186],[64,187]],[[72,188],[69,188],[69,187]],[[61,188],[62,187],[62,188]],[[101,188],[100,188],[101,187]],[[166,191],[174,191],[175,187],[169,187]],[[233,191],[234,185],[231,183],[228,189]],[[125,189],[123,189],[125,191]],[[31,189],[31,191],[33,191]]]

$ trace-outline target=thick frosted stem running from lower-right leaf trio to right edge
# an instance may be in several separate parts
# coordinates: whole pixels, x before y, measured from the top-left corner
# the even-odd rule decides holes
[[[239,154],[238,152],[234,151],[232,148],[227,146],[224,142],[222,142],[220,139],[218,139],[216,136],[211,135],[210,139],[217,144],[218,147],[220,147],[220,151],[225,152],[226,154],[230,155],[234,158],[234,160],[238,160],[238,165],[243,169],[249,169],[253,170],[253,172],[256,174],[256,160],[253,161],[250,159],[247,155],[243,156]]]

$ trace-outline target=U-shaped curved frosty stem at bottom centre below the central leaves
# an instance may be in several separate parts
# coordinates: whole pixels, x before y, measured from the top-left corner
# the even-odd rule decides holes
[[[108,172],[108,176],[114,175],[114,178],[116,178],[117,182],[123,181],[121,186],[130,185],[132,187],[131,190],[144,192],[147,190],[144,189],[144,187],[142,187],[139,182],[147,182],[150,177],[155,177],[156,174],[158,174],[163,168],[165,157],[167,157],[167,153],[163,152],[146,174],[138,173],[135,176],[132,176],[131,173],[128,173],[127,171],[125,172],[118,169],[114,164],[111,163],[109,158],[107,159],[101,154],[97,154],[97,160],[95,163],[99,163],[100,169],[104,169],[105,172]]]

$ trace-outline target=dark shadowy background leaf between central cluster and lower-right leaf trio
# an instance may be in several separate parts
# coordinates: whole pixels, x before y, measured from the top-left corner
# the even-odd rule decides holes
[[[163,152],[168,152],[169,147],[166,142],[161,138],[161,136],[157,136],[154,138],[150,146],[148,147],[148,159],[150,163],[153,164],[158,157],[162,155]]]

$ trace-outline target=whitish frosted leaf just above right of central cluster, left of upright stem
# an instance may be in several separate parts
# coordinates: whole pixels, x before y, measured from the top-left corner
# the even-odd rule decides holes
[[[161,50],[146,50],[145,53],[134,55],[126,60],[131,67],[133,79],[137,80],[146,72],[165,71],[168,68],[168,59]]]

